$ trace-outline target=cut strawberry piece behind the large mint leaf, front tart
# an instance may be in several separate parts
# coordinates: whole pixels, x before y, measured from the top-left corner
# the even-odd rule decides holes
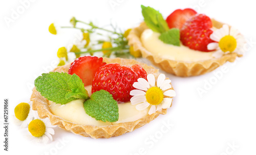
[[[102,58],[83,56],[71,63],[69,74],[76,74],[82,80],[84,86],[92,85],[93,77],[99,67],[105,65]]]

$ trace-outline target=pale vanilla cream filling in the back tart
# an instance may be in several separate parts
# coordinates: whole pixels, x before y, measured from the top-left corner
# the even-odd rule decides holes
[[[214,58],[212,54],[216,51],[202,52],[190,49],[184,45],[175,46],[159,40],[160,33],[153,32],[151,29],[146,29],[141,34],[141,42],[143,46],[154,55],[158,55],[164,59],[197,62]]]

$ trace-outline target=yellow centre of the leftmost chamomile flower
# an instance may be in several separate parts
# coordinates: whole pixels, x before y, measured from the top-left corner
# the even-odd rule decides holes
[[[15,117],[24,121],[29,115],[30,106],[28,103],[22,102],[18,104],[14,109]]]

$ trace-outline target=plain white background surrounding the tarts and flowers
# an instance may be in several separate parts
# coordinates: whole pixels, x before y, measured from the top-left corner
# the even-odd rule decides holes
[[[256,154],[256,11],[252,1],[37,0],[27,4],[13,22],[6,23],[5,18],[11,18],[13,10],[17,11],[23,1],[0,2],[1,154]],[[110,2],[119,5],[112,7]],[[234,63],[226,63],[224,72],[220,67],[196,77],[166,74],[177,92],[173,107],[166,115],[132,133],[92,139],[56,127],[54,141],[45,145],[29,141],[10,123],[9,151],[4,151],[4,98],[9,98],[9,114],[13,115],[17,104],[30,100],[35,78],[52,69],[54,63],[56,65],[57,49],[70,46],[79,34],[66,29],[56,36],[51,35],[48,32],[50,23],[70,25],[69,20],[75,16],[100,26],[112,22],[125,30],[136,27],[143,20],[141,4],[160,10],[164,18],[175,9],[192,7],[233,25],[249,42],[246,54]],[[200,96],[199,88],[207,90]],[[172,127],[168,129],[164,126],[166,123]]]

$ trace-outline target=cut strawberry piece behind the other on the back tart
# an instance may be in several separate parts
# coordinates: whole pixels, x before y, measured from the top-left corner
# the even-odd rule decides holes
[[[197,12],[193,9],[177,9],[166,18],[166,22],[170,29],[181,29],[184,22],[187,21],[191,16],[195,16],[196,14]]]

